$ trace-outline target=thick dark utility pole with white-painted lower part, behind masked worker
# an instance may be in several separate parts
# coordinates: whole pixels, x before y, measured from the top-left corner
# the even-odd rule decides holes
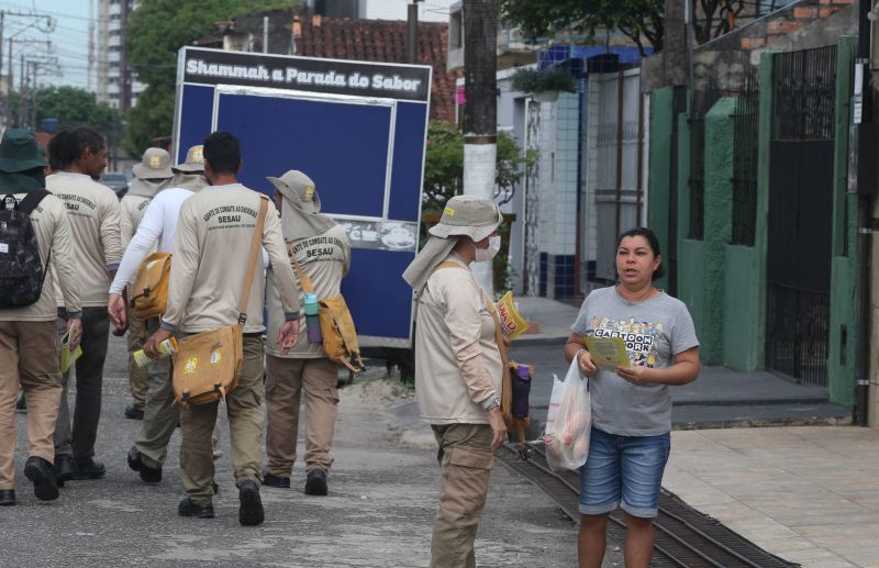
[[[464,192],[493,199],[498,158],[498,0],[464,0]],[[491,263],[474,274],[494,297]]]

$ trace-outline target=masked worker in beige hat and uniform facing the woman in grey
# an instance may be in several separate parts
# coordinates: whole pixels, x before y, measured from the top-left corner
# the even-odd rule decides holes
[[[499,396],[503,363],[492,300],[470,270],[500,249],[490,200],[448,200],[431,238],[403,272],[416,293],[415,393],[439,446],[443,480],[431,566],[475,567],[474,542],[488,495],[493,452],[507,437]]]

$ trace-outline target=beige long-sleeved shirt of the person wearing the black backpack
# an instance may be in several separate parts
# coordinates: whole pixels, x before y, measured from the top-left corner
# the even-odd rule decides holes
[[[25,193],[15,193],[21,201]],[[74,253],[70,245],[70,224],[62,200],[46,196],[31,212],[31,224],[40,247],[45,280],[40,300],[24,308],[0,310],[0,321],[54,322],[58,318],[55,305],[55,288],[60,282],[62,297],[67,313],[78,315],[82,307],[79,301],[79,282],[74,270]],[[49,256],[49,250],[52,255]],[[48,266],[46,266],[48,259]]]

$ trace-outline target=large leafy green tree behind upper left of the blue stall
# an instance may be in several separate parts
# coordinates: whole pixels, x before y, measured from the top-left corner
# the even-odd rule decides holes
[[[140,156],[154,137],[170,134],[180,47],[210,36],[214,33],[214,22],[274,8],[292,8],[297,3],[290,0],[142,2],[129,20],[125,47],[132,69],[148,88],[126,116],[125,149]]]

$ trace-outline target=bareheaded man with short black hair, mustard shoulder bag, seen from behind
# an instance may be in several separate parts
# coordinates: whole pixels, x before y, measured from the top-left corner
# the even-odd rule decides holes
[[[158,343],[171,332],[199,333],[234,325],[251,254],[260,199],[256,191],[237,182],[241,169],[238,141],[215,132],[204,140],[204,175],[211,187],[187,199],[180,208],[174,244],[168,305],[162,328],[146,343],[151,357],[158,356]],[[263,229],[263,247],[274,268],[287,320],[277,342],[282,352],[299,336],[299,302],[293,271],[287,257],[278,211],[268,203]],[[247,300],[244,324],[244,364],[237,387],[226,394],[232,438],[232,465],[238,487],[238,521],[257,525],[264,520],[259,498],[263,443],[263,294],[265,275],[257,264]],[[269,338],[272,341],[272,338]],[[180,501],[180,516],[213,517],[213,456],[211,434],[218,403],[194,404],[180,412],[180,478],[187,497]]]

